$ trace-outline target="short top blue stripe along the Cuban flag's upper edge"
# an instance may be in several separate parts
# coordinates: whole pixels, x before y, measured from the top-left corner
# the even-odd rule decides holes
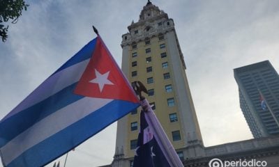
[[[79,52],[77,52],[77,54],[75,54],[72,58],[70,58],[70,60],[68,60],[61,67],[59,67],[59,69],[56,70],[56,72],[59,72],[67,67],[70,67],[71,65],[75,65],[76,63],[85,61],[88,58],[91,58],[91,56],[93,54],[93,50],[95,49],[95,46],[96,46],[96,41],[97,41],[97,38],[91,40]],[[53,74],[55,74],[56,72],[54,72]]]

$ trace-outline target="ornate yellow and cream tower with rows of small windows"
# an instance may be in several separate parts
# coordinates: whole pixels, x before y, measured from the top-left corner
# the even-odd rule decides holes
[[[204,154],[202,135],[190,95],[186,65],[174,20],[150,1],[138,22],[122,35],[122,70],[130,82],[141,81],[146,98],[181,159]],[[117,124],[112,166],[133,166],[140,126],[140,109]]]

